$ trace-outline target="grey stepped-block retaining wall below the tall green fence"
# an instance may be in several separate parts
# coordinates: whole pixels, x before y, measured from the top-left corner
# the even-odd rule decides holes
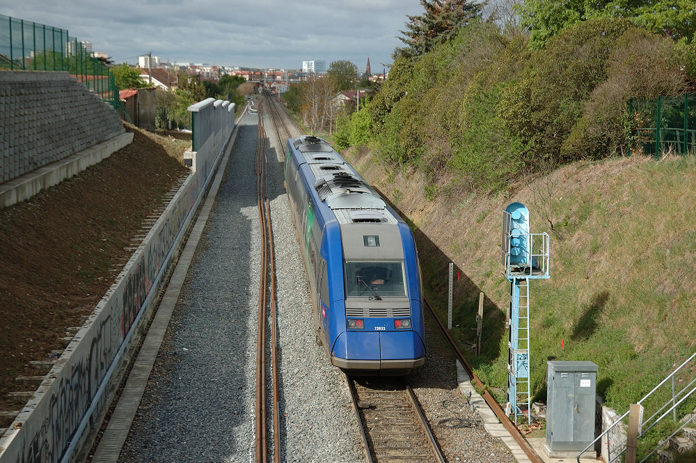
[[[0,72],[0,182],[124,132],[116,111],[68,72]]]

